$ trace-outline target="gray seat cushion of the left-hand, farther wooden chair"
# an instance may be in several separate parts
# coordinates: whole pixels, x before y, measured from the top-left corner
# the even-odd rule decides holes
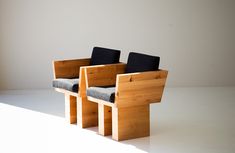
[[[61,88],[72,92],[78,92],[78,83],[79,83],[79,78],[75,79],[59,78],[53,80],[52,85],[55,88]]]

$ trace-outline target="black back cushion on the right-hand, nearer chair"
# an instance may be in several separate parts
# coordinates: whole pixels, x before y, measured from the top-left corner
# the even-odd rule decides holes
[[[130,52],[126,73],[154,71],[159,68],[160,57]]]

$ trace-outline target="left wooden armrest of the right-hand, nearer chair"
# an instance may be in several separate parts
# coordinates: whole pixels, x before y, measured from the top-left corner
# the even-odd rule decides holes
[[[126,64],[107,64],[85,67],[86,86],[115,85],[116,75],[125,72]]]

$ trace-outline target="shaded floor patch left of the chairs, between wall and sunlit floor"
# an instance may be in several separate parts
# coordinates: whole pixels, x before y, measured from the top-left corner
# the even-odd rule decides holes
[[[54,90],[0,91],[0,103],[64,117],[64,98]]]

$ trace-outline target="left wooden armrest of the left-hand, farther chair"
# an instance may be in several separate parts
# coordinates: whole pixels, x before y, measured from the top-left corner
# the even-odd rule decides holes
[[[53,61],[54,79],[79,77],[80,67],[90,65],[90,58]]]

